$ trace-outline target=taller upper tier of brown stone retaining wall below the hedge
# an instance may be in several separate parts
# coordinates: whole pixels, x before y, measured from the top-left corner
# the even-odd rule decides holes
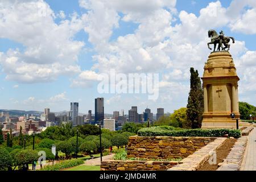
[[[186,158],[216,137],[129,137],[127,158]]]

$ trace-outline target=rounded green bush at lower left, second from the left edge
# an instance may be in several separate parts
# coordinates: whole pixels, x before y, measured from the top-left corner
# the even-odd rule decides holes
[[[24,164],[32,164],[38,158],[38,152],[34,150],[21,150],[15,155],[14,161],[18,166],[22,166]]]

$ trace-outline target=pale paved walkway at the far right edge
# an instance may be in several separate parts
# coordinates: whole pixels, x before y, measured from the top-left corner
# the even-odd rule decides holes
[[[248,136],[245,156],[241,164],[241,171],[256,171],[256,129],[254,128]]]

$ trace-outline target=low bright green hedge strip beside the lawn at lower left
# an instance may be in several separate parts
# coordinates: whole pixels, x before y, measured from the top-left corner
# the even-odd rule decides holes
[[[60,169],[79,166],[80,164],[84,164],[84,160],[82,159],[64,160],[63,162],[60,162],[54,165],[47,165],[43,167],[41,171],[59,171]]]

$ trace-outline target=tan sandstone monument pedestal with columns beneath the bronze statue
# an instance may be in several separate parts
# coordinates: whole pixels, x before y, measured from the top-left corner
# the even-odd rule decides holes
[[[201,78],[204,87],[203,129],[236,129],[236,119],[240,118],[238,107],[237,76],[232,56],[227,51],[212,52],[204,66]]]

